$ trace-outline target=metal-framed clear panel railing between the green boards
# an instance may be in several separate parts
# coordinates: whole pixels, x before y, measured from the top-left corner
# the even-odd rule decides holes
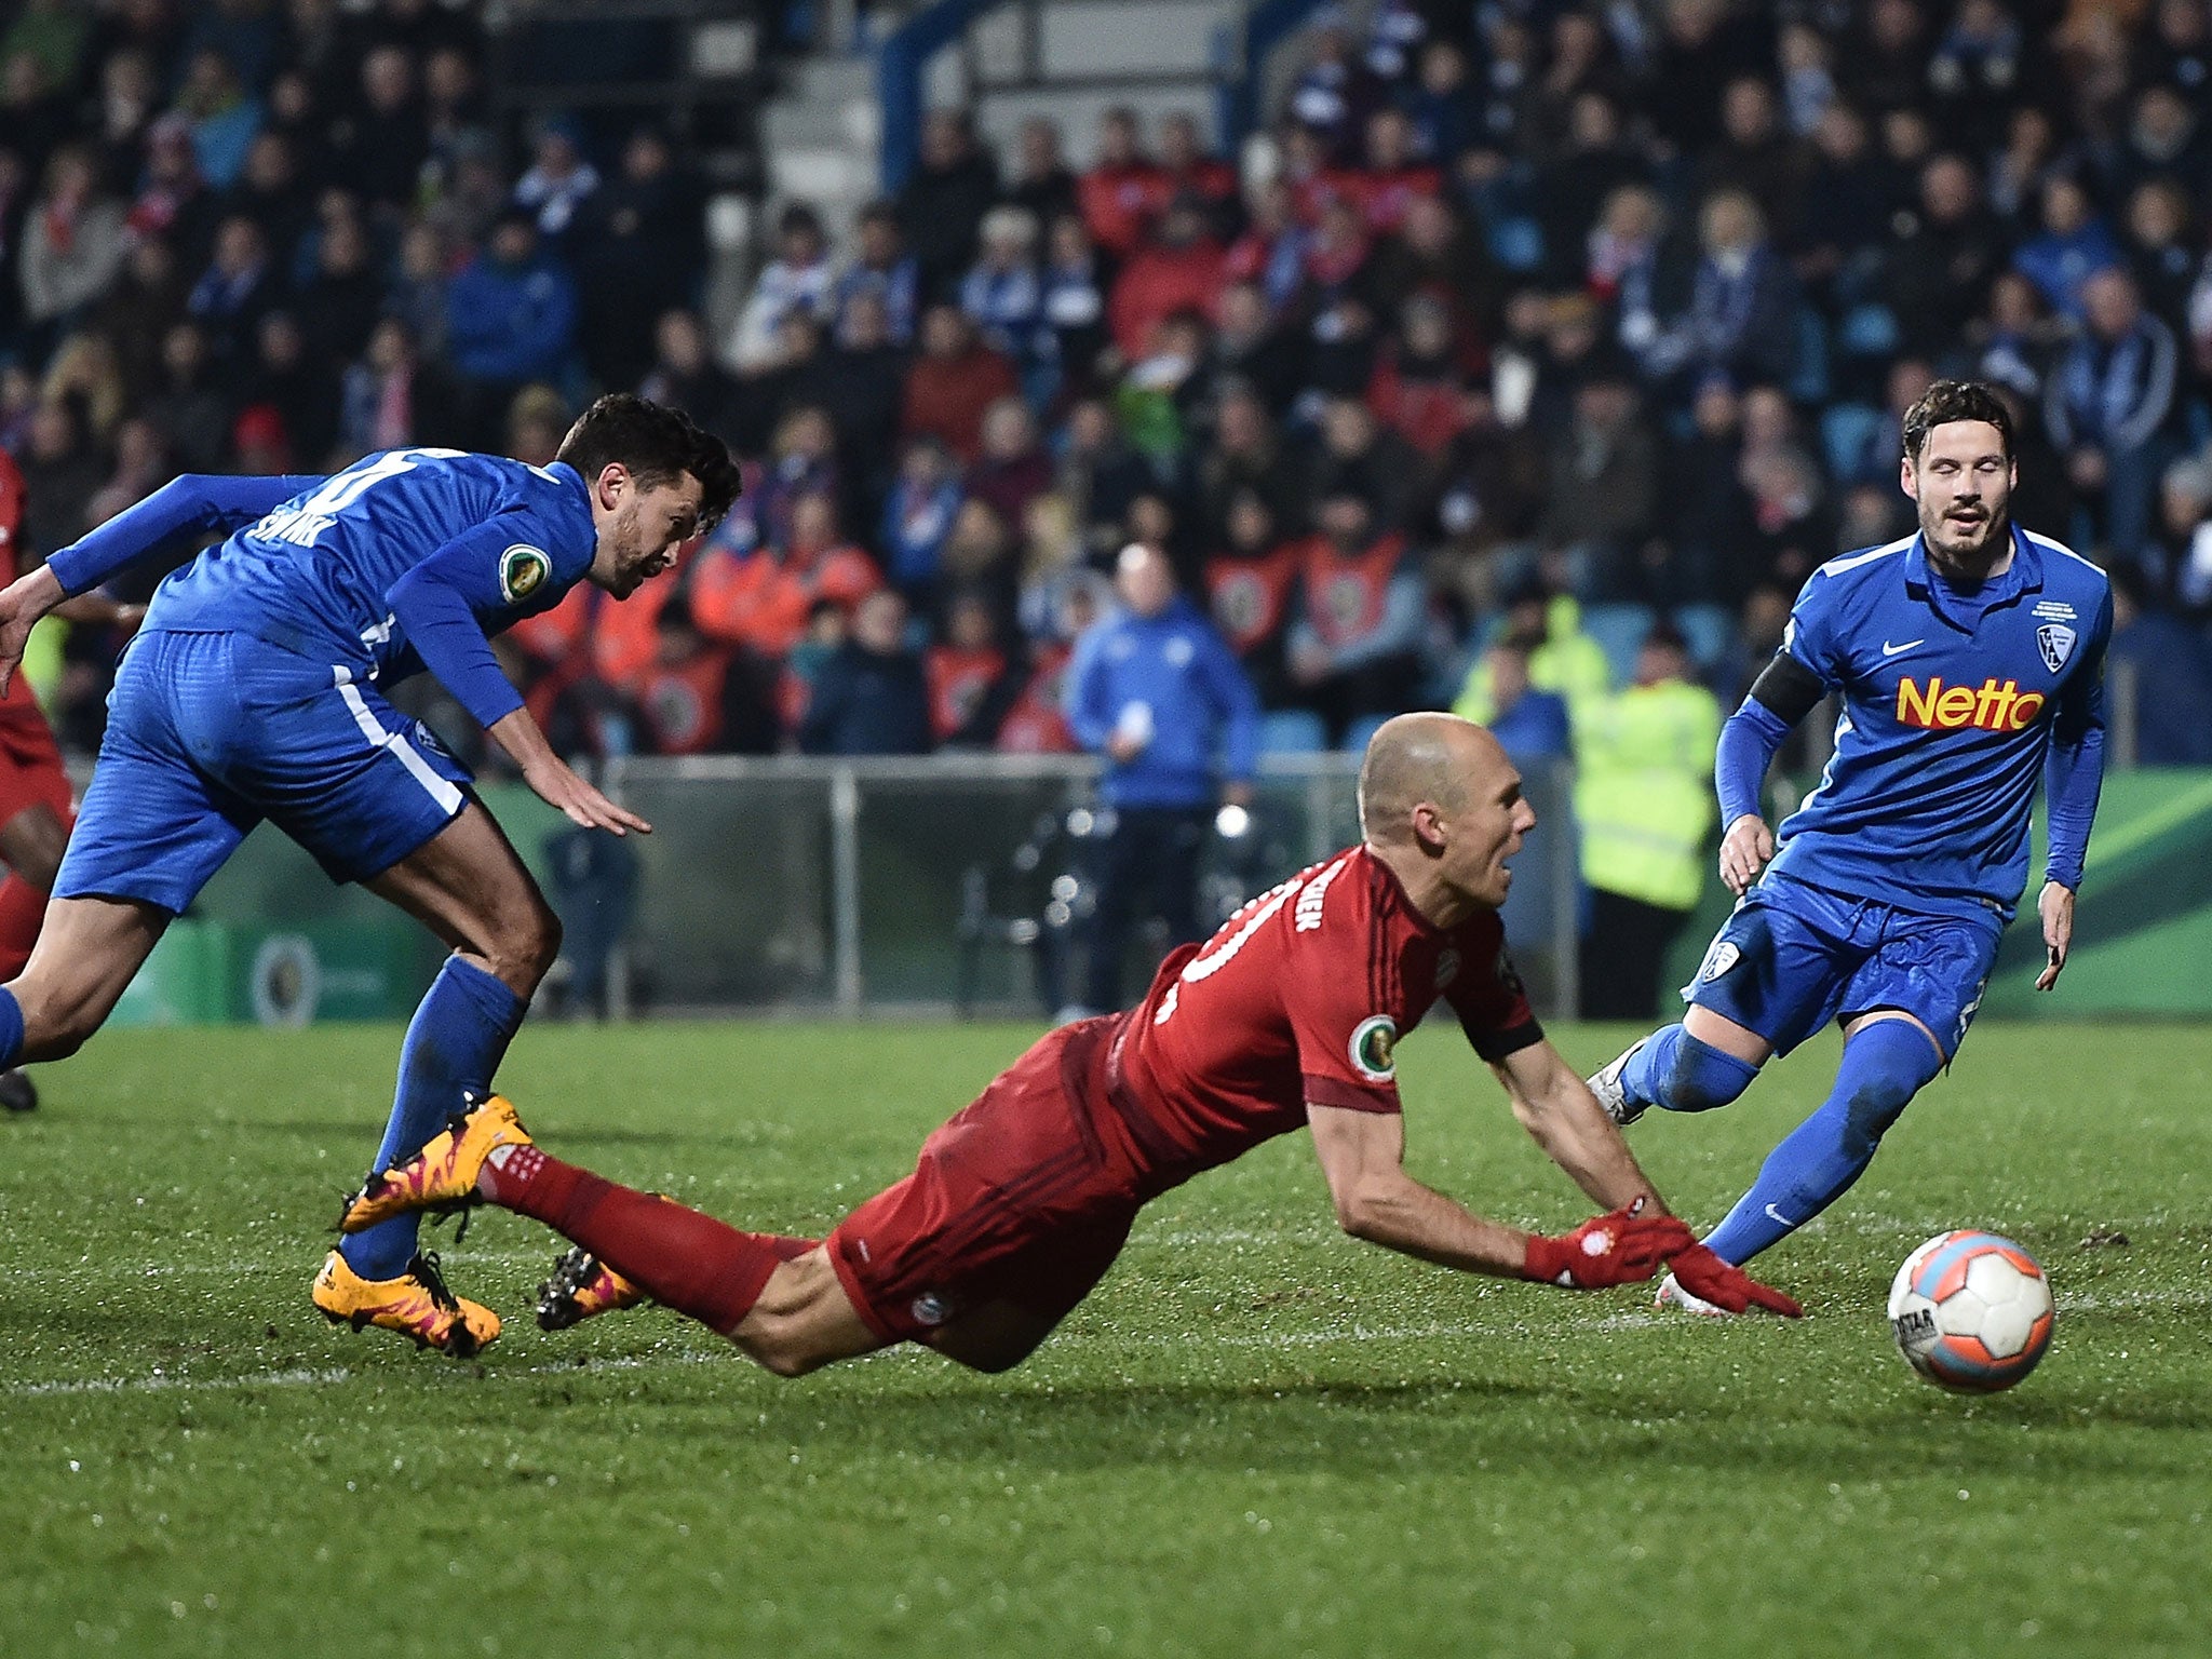
[[[1243,834],[1208,847],[1203,914],[1356,841],[1356,772],[1352,754],[1270,759]],[[637,843],[617,1015],[1051,1013],[1084,956],[1113,823],[1079,757],[624,759],[606,787],[655,825]],[[1571,790],[1566,765],[1528,779],[1542,823],[1506,907],[1551,1015],[1575,1009]]]

